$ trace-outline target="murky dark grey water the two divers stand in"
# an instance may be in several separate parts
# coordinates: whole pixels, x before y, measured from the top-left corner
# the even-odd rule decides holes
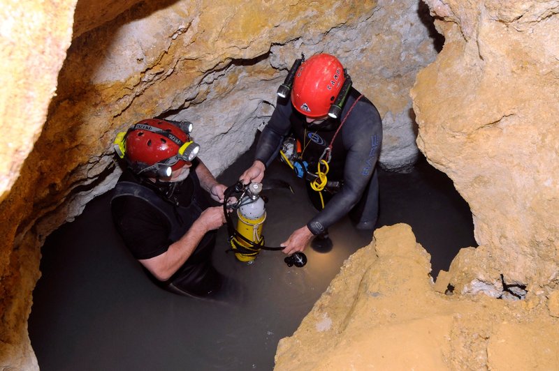
[[[235,183],[252,160],[242,156],[220,180]],[[266,244],[279,245],[316,211],[304,185],[279,162],[267,176],[289,181],[294,194],[268,190]],[[433,275],[460,248],[475,245],[467,204],[446,175],[422,159],[413,172],[381,171],[379,226],[405,222],[432,257]],[[110,192],[48,237],[34,291],[29,336],[43,371],[271,370],[279,339],[296,330],[349,255],[370,243],[344,219],[330,229],[333,249],[307,248],[303,268],[263,251],[252,264],[226,253],[226,229],[214,252],[230,278],[219,302],[176,296],[155,287],[115,233]]]

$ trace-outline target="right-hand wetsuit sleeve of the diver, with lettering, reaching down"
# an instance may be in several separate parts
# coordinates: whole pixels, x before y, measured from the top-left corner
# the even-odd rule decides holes
[[[382,143],[382,121],[374,105],[358,104],[342,127],[343,144],[347,149],[344,185],[324,210],[307,223],[312,234],[324,232],[349,213],[361,199],[375,171]]]

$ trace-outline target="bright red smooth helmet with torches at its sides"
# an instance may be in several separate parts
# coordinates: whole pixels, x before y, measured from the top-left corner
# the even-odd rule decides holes
[[[307,117],[324,117],[340,93],[344,81],[344,68],[335,56],[311,56],[297,70],[291,103]]]

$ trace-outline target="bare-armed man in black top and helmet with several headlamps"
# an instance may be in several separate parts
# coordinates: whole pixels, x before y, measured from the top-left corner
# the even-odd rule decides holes
[[[176,294],[208,296],[222,276],[212,266],[215,229],[225,222],[224,201],[201,160],[188,121],[147,119],[121,132],[115,151],[126,160],[111,200],[113,220],[133,257],[154,282]],[[205,191],[205,192],[204,192]]]

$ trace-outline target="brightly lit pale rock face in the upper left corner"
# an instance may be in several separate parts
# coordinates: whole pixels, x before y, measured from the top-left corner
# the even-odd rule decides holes
[[[6,199],[45,123],[70,46],[76,1],[2,3],[0,202]],[[0,273],[3,265],[0,257]]]

